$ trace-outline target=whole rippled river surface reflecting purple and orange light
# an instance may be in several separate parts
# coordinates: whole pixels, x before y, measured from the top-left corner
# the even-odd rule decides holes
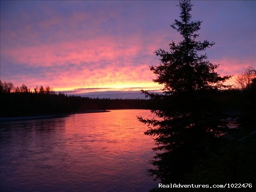
[[[1,192],[148,192],[154,140],[136,116],[112,110],[68,117],[1,122]]]

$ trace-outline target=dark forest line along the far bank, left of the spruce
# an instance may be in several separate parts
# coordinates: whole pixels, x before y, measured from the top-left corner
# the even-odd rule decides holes
[[[85,110],[149,109],[150,100],[110,99],[68,96],[46,86],[36,86],[34,90],[25,84],[15,87],[12,82],[0,81],[0,116],[31,116],[83,112]]]

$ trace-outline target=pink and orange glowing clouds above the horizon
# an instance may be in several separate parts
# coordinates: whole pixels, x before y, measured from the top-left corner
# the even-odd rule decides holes
[[[97,39],[74,39],[72,42],[49,45],[17,46],[15,49],[6,48],[1,54],[13,58],[16,63],[26,64],[28,68],[42,70],[42,77],[19,74],[18,80],[12,80],[15,86],[24,83],[33,89],[43,85],[55,91],[86,88],[84,92],[104,91],[102,88],[120,91],[160,90],[162,86],[152,82],[156,76],[149,66],[159,64],[159,58],[153,52],[157,46],[162,47],[166,43],[157,39],[141,41],[136,35],[130,36],[128,41],[129,44],[126,44],[120,37],[101,36]],[[143,59],[138,59],[142,50]],[[221,76],[237,76],[246,67],[255,67],[254,61],[250,59],[241,61],[223,58],[210,61],[220,64],[216,71]],[[225,84],[235,84],[235,77]]]

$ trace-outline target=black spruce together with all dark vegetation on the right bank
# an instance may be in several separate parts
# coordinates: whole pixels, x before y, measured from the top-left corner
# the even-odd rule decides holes
[[[149,174],[167,185],[247,183],[250,184],[247,189],[253,191],[256,72],[249,67],[237,78],[243,90],[232,90],[232,85],[225,83],[232,76],[220,76],[216,72],[219,65],[212,64],[204,53],[215,43],[198,40],[202,21],[191,20],[190,0],[180,0],[178,6],[180,20],[174,20],[171,27],[180,33],[182,40],[170,42],[168,51],[156,50],[160,64],[150,67],[156,74],[153,81],[164,87],[163,94],[142,90],[154,101],[152,112],[159,117],[138,117],[149,127],[145,134],[154,136],[156,142],[153,148],[156,155],[151,161],[154,168]],[[244,78],[247,74],[250,78]],[[239,118],[241,129],[230,129],[230,118]],[[247,190],[244,187],[240,187],[241,191]],[[239,191],[240,188],[206,191]],[[183,188],[181,191],[203,190]]]

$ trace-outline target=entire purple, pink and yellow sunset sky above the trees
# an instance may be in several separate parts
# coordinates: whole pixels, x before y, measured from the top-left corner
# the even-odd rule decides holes
[[[50,86],[90,97],[138,98],[159,90],[149,66],[180,34],[178,1],[3,1],[0,75],[15,86]],[[198,40],[221,75],[256,68],[256,1],[192,1]],[[230,84],[234,83],[234,78]]]

